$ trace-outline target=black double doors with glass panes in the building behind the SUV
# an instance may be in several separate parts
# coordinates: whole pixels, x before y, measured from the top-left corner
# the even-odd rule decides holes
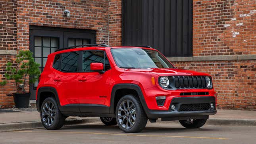
[[[96,31],[85,29],[64,29],[56,27],[29,27],[29,49],[34,54],[35,61],[42,72],[48,54],[58,48],[95,43]],[[38,82],[30,84],[30,99],[35,100]]]

